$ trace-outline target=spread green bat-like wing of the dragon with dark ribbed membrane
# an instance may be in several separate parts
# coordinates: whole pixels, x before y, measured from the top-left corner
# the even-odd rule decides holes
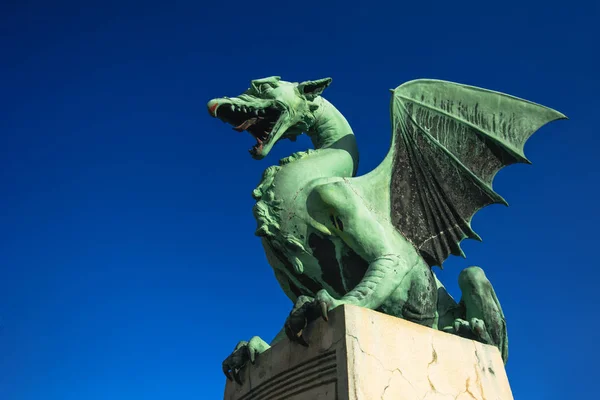
[[[481,240],[471,218],[506,204],[492,189],[502,167],[529,163],[527,139],[563,114],[506,94],[436,80],[393,90],[391,218],[430,265]]]

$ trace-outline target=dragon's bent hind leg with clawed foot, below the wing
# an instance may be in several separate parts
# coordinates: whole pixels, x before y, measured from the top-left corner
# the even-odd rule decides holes
[[[462,291],[460,306],[464,316],[443,330],[498,347],[506,363],[506,320],[492,284],[481,268],[468,267],[460,273],[458,285]]]

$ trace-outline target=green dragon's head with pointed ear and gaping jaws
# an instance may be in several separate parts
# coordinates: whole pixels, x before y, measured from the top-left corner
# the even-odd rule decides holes
[[[208,112],[256,139],[250,150],[253,158],[264,158],[281,139],[295,140],[314,123],[314,100],[329,86],[331,78],[292,83],[278,76],[250,82],[250,88],[237,97],[208,102]]]

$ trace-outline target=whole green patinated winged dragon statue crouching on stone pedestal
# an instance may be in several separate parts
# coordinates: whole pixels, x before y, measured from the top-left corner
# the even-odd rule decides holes
[[[208,102],[209,114],[247,131],[262,159],[280,140],[306,133],[314,150],[267,168],[252,196],[256,235],[294,306],[284,336],[307,346],[306,324],[352,304],[491,344],[508,357],[506,320],[479,267],[459,275],[456,302],[432,267],[460,243],[481,240],[471,228],[481,208],[505,200],[492,189],[504,166],[529,163],[527,139],[550,121],[550,108],[503,93],[420,79],[392,90],[392,140],[373,171],[357,175],[358,149],[344,116],[321,95],[331,78],[301,83],[251,81],[237,97]],[[248,361],[270,347],[238,343],[223,362],[240,382]]]

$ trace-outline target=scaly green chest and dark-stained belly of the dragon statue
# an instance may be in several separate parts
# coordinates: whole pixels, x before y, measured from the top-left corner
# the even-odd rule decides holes
[[[316,184],[311,171],[298,162],[265,171],[253,192],[256,235],[288,297],[314,296],[321,289],[341,297],[364,276],[367,263],[339,237],[315,228],[307,210]]]

